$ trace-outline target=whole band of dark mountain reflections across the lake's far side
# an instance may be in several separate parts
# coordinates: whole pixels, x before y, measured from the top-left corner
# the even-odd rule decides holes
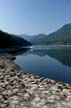
[[[37,55],[37,56],[50,56],[61,62],[63,65],[71,67],[71,50],[69,49],[29,49],[25,48],[14,55]]]

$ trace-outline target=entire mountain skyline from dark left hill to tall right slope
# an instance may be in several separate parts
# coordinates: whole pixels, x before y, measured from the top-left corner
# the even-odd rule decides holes
[[[19,36],[9,34],[0,30],[0,49],[18,46],[28,46],[31,44],[42,45],[71,45],[71,23],[62,26],[57,31],[46,35],[26,35]]]

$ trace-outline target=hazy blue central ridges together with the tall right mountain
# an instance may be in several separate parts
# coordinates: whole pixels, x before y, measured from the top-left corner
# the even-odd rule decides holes
[[[62,26],[49,35],[38,34],[28,37],[25,36],[25,39],[33,44],[71,44],[71,23]]]

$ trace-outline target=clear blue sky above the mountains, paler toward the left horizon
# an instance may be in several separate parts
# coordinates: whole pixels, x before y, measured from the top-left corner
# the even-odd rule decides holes
[[[49,34],[71,23],[71,0],[0,0],[0,29],[12,34]]]

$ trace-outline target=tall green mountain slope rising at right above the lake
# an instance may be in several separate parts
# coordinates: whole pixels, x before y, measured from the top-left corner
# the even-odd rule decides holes
[[[66,24],[56,32],[44,37],[40,42],[71,42],[71,24]]]

